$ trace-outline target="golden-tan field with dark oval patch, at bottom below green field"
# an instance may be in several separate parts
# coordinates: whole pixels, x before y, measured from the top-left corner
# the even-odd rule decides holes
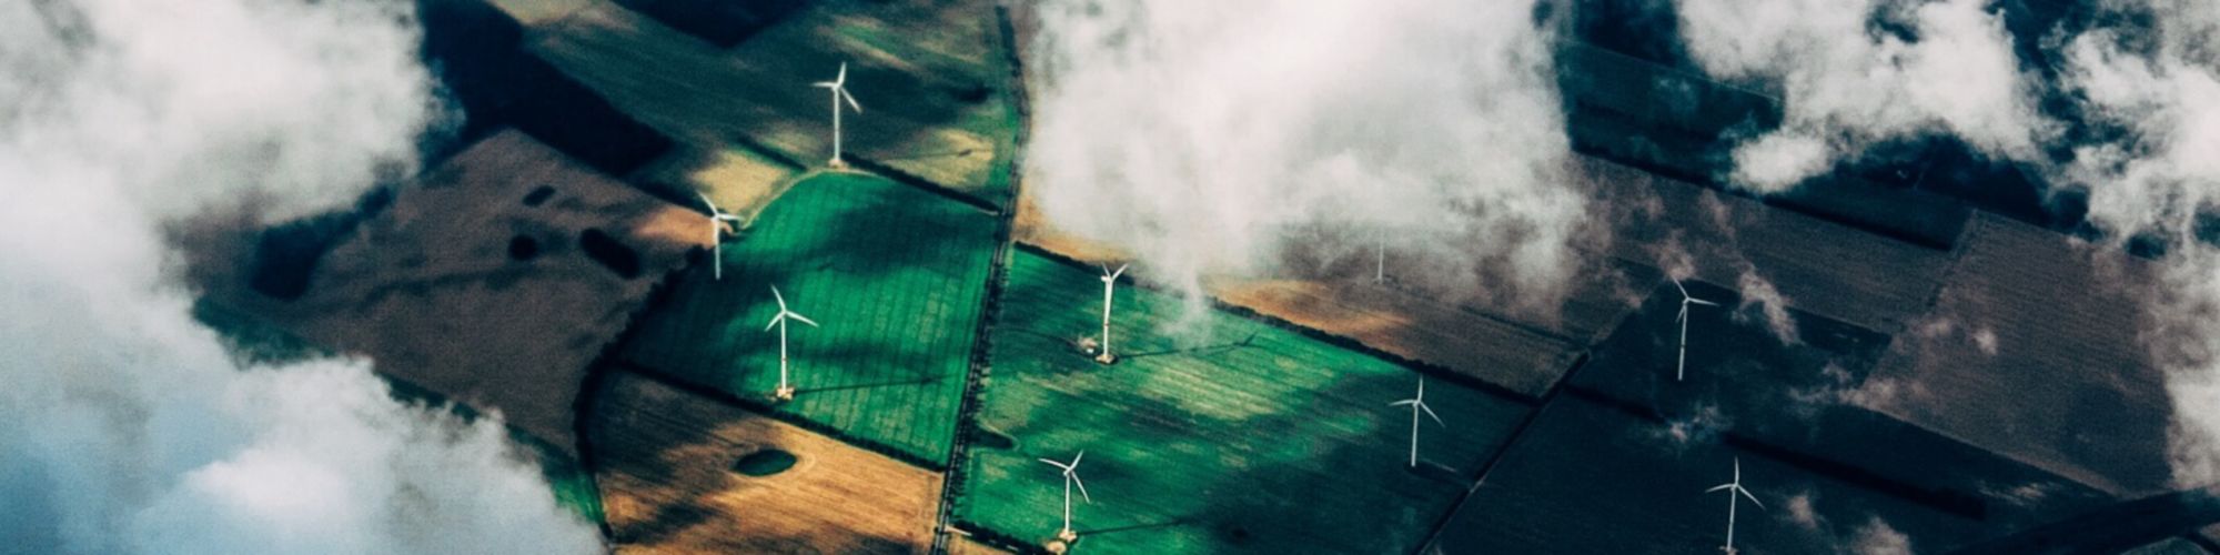
[[[941,477],[610,373],[593,440],[617,553],[926,553]]]

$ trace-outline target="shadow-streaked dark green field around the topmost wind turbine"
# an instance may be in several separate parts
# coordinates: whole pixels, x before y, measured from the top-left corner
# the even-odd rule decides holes
[[[848,64],[864,113],[846,158],[1008,204],[1019,118],[992,2],[817,4],[719,49],[615,4],[579,9],[528,47],[648,127],[750,144],[793,164],[833,155],[826,89]]]

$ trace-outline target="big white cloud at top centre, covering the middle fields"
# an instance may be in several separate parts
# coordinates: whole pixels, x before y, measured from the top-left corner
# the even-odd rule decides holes
[[[1197,291],[1383,233],[1427,262],[1399,280],[1536,306],[1578,266],[1585,195],[1527,0],[1037,11],[1028,191],[1159,282]],[[1310,244],[1316,229],[1336,240]]]

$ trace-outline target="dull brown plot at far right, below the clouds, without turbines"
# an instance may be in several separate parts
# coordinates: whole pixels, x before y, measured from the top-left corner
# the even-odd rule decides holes
[[[2171,404],[2138,335],[2158,271],[1976,215],[1934,315],[1871,377],[1900,395],[1869,406],[2116,495],[2162,493]]]

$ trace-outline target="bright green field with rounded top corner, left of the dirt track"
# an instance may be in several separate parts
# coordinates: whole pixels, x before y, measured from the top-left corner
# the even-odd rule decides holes
[[[779,382],[770,286],[819,329],[790,324],[795,400],[775,411],[926,462],[948,455],[970,369],[995,218],[915,186],[824,173],[697,264],[624,357],[744,400]]]

